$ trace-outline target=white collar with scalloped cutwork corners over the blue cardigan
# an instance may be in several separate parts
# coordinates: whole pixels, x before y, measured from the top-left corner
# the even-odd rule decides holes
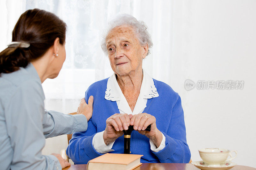
[[[116,74],[114,73],[110,78],[108,78],[107,89],[105,92],[105,99],[111,101],[120,100],[120,95],[123,95],[117,81]],[[140,87],[140,95],[144,99],[151,99],[158,97],[159,94],[154,85],[153,78],[151,78],[146,71],[143,70],[143,79]]]

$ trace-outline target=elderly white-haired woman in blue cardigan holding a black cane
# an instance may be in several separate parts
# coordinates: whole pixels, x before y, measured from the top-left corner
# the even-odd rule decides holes
[[[188,163],[190,151],[180,96],[142,70],[152,47],[147,26],[130,15],[110,22],[102,49],[114,74],[93,83],[85,100],[94,96],[92,118],[86,132],[73,134],[67,155],[86,164],[104,153],[124,153],[122,130],[133,125],[132,154],[142,163]],[[150,131],[145,131],[151,125]]]

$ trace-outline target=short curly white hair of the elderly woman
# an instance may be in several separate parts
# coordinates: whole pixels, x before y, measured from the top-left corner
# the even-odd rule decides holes
[[[108,49],[106,47],[106,37],[108,33],[117,26],[131,26],[137,35],[140,45],[145,46],[146,44],[148,44],[147,55],[150,54],[149,48],[153,46],[153,42],[151,40],[150,34],[148,33],[147,25],[143,21],[138,21],[132,15],[121,14],[121,15],[117,15],[114,19],[108,22],[108,28],[101,42],[101,48],[106,55],[108,55]]]

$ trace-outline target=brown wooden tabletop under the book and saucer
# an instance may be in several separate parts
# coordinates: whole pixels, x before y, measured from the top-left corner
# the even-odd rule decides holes
[[[71,165],[63,170],[86,170],[86,164],[81,165]],[[103,170],[104,168],[102,168]],[[137,167],[135,170],[165,170],[165,169],[175,169],[175,170],[199,170],[196,166],[192,164],[168,164],[168,163],[143,163],[141,166]],[[251,170],[255,168],[249,167],[249,166],[241,166],[236,165],[235,167],[231,168],[231,170]]]

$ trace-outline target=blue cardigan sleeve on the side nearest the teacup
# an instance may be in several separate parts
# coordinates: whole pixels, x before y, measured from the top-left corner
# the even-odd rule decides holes
[[[153,152],[161,163],[188,163],[191,157],[186,139],[186,128],[181,99],[172,108],[171,121],[165,136],[165,147],[159,152]]]

